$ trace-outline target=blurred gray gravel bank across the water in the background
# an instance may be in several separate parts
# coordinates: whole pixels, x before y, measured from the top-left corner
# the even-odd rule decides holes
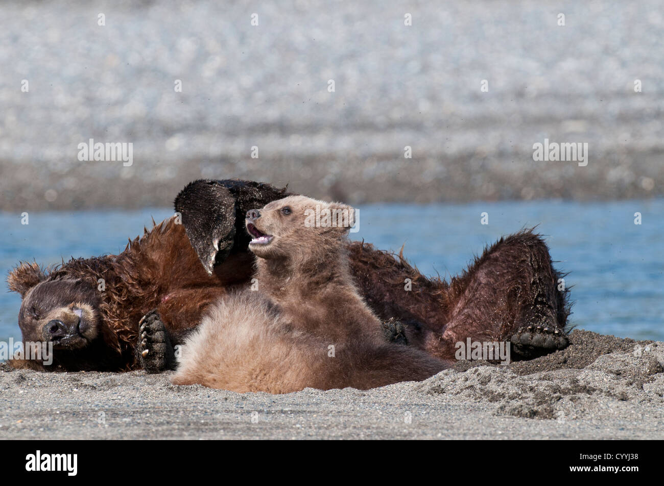
[[[201,177],[353,204],[664,194],[656,0],[1,8],[0,210],[168,206]],[[89,139],[132,165],[79,161]],[[588,165],[533,161],[544,139]]]

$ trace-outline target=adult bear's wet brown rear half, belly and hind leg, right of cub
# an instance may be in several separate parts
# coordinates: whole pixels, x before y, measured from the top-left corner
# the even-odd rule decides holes
[[[408,343],[431,355],[454,359],[455,344],[467,337],[511,341],[516,359],[567,345],[568,290],[558,288],[564,275],[531,230],[501,238],[450,282],[427,278],[401,253],[367,243],[351,243],[350,255],[357,285],[371,288],[365,292],[369,306],[383,320],[398,318]],[[406,278],[412,290],[404,290]],[[535,333],[550,340],[528,339]]]

